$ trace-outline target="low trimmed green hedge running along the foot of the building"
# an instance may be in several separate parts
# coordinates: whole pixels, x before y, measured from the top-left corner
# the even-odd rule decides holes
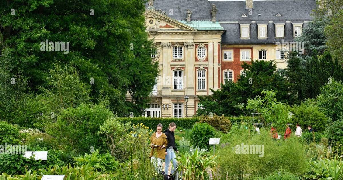
[[[252,117],[226,117],[233,124],[240,121],[251,121]],[[134,118],[118,118],[122,122],[132,121],[132,124],[143,123],[150,129],[155,129],[158,123],[162,123],[163,129],[169,127],[169,123],[175,122],[178,128],[191,129],[196,122],[199,122],[200,117],[192,118],[146,118],[146,117],[134,117]]]

